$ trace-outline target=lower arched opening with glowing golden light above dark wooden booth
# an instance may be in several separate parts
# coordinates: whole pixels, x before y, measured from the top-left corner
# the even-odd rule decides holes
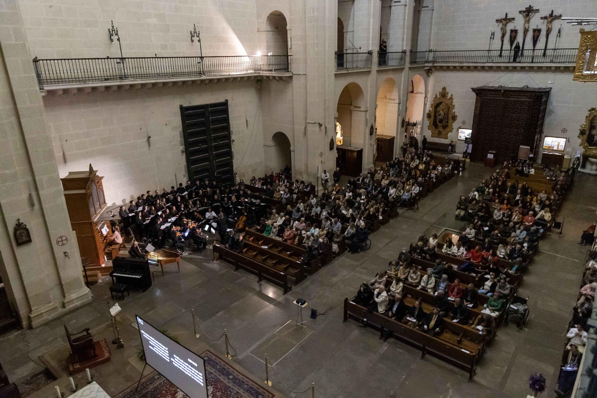
[[[365,134],[368,134],[365,132],[364,102],[363,90],[355,82],[347,84],[338,97],[336,166],[343,175],[356,177],[361,174]]]

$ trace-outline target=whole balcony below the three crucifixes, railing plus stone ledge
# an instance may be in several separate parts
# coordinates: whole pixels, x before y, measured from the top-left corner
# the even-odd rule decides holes
[[[518,50],[451,50],[411,51],[411,64],[434,66],[506,67],[571,67],[576,64],[578,48],[548,48]]]

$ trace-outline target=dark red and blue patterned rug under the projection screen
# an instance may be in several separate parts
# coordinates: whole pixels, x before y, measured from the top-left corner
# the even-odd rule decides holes
[[[253,380],[229,366],[213,352],[207,350],[200,355],[205,359],[205,379],[209,398],[273,398],[274,394],[260,387]],[[153,371],[137,383],[121,391],[115,398],[186,398],[158,372]]]

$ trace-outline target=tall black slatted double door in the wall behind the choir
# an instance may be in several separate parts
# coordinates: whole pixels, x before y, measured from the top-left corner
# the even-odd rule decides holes
[[[219,186],[234,181],[228,100],[180,106],[189,180],[211,178]]]

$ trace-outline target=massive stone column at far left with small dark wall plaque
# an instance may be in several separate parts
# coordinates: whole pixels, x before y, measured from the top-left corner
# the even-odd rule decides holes
[[[0,144],[4,272],[23,326],[39,326],[91,301],[70,227],[62,186],[45,122],[44,106],[26,43],[17,0],[2,0],[0,13]],[[12,227],[27,224],[32,243],[17,246]],[[57,245],[60,236],[68,243]],[[64,240],[61,239],[60,242]]]

